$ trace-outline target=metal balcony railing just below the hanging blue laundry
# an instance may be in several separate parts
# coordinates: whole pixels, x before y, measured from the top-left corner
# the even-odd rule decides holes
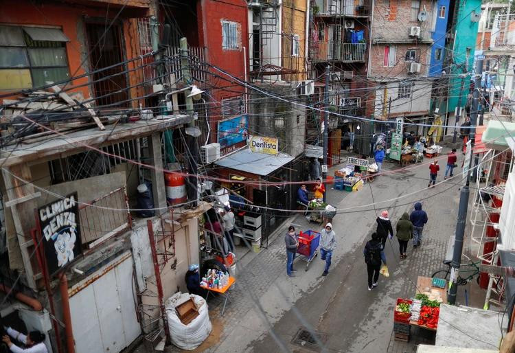
[[[312,59],[341,62],[365,61],[367,43],[343,43],[341,41],[314,42],[311,45]]]

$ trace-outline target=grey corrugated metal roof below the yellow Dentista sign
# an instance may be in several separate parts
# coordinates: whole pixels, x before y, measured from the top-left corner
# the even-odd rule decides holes
[[[220,167],[265,176],[281,168],[286,163],[293,161],[293,159],[293,157],[286,155],[286,153],[279,153],[275,156],[264,155],[263,153],[252,152],[247,148],[218,159],[215,164]]]

